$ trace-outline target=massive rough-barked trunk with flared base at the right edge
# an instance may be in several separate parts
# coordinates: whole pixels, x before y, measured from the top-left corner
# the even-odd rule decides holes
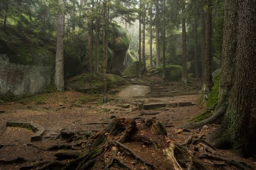
[[[228,106],[224,119],[210,139],[218,147],[229,144],[244,156],[256,159],[255,6],[256,0],[225,1],[222,54],[226,56],[224,61],[222,59],[221,68],[225,69],[222,73],[228,73],[228,76],[221,75],[221,81],[229,84],[229,88],[220,86],[220,90],[223,92],[230,89],[230,96],[226,102]]]

